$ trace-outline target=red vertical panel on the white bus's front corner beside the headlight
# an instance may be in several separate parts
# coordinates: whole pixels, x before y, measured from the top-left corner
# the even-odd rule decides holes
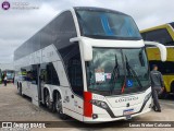
[[[92,104],[90,103],[92,95],[90,92],[84,92],[84,116],[92,116]]]

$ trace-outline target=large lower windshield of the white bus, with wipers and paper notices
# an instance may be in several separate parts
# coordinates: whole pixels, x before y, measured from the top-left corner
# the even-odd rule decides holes
[[[90,92],[120,95],[145,91],[150,86],[145,48],[94,48],[94,58],[86,64]]]

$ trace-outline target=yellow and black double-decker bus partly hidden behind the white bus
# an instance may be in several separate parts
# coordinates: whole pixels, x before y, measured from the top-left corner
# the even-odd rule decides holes
[[[144,29],[141,35],[144,40],[158,41],[166,47],[165,62],[161,62],[158,48],[147,49],[150,66],[157,64],[163,74],[165,92],[162,97],[166,97],[169,93],[174,93],[174,22]]]

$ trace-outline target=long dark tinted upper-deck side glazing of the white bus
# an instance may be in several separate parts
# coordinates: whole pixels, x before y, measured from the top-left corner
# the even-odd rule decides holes
[[[72,13],[65,11],[20,46],[14,51],[14,60],[52,44],[54,44],[58,49],[64,48],[71,45],[70,38],[73,37],[76,37],[74,20]]]

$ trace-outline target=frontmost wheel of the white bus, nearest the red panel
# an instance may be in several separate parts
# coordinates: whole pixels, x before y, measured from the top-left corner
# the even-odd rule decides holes
[[[67,116],[63,114],[63,108],[62,108],[62,99],[59,93],[57,93],[57,98],[55,98],[55,110],[59,115],[59,117],[63,120],[67,119]]]

